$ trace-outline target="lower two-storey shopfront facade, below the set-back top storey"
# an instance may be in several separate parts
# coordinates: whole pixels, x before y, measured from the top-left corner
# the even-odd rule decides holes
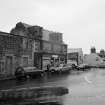
[[[47,64],[56,65],[59,63],[66,63],[67,61],[67,45],[66,44],[58,44],[49,41],[43,41],[43,68],[47,66]]]

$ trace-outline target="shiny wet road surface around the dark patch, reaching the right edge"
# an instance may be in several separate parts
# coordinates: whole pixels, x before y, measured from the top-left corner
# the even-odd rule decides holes
[[[63,96],[64,105],[105,105],[105,69],[83,73],[55,75],[40,79],[0,82],[0,89],[44,86],[64,86],[69,94]]]

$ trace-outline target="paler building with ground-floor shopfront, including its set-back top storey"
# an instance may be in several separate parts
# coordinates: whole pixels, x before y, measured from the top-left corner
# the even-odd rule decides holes
[[[43,67],[46,67],[48,63],[56,65],[67,62],[67,45],[64,44],[62,36],[60,32],[43,29]]]

